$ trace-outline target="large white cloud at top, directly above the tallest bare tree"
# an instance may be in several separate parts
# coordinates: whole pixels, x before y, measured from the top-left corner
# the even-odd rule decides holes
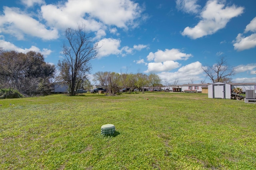
[[[130,0],[68,0],[64,4],[44,5],[41,10],[49,25],[66,28],[84,23],[89,31],[97,31],[103,25],[134,26],[142,13],[139,4]]]

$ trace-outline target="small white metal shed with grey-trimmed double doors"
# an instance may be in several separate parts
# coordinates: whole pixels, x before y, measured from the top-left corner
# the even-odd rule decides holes
[[[231,85],[222,82],[208,85],[208,98],[231,99]]]

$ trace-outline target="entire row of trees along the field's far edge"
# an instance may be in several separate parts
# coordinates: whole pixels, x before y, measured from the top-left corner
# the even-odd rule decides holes
[[[92,35],[86,33],[84,25],[77,29],[66,29],[66,41],[63,44],[62,54],[64,59],[58,61],[59,75],[55,76],[54,65],[46,63],[41,53],[29,51],[18,53],[17,51],[4,51],[0,48],[0,89],[14,89],[22,94],[32,96],[34,94],[49,94],[53,89],[53,80],[64,82],[69,87],[70,96],[76,95],[79,88],[90,84],[90,60],[98,56],[101,47],[93,42]],[[212,82],[230,82],[230,76],[234,75],[234,69],[227,66],[225,57],[221,57],[213,66],[203,66],[202,69]],[[127,74],[115,72],[96,72],[94,82],[108,88],[109,94],[119,92],[120,88],[162,86],[161,79],[157,74],[143,73]],[[170,86],[164,80],[166,86]],[[191,82],[194,82],[191,79]],[[174,81],[174,86],[178,80]],[[1,94],[0,94],[1,95]]]

